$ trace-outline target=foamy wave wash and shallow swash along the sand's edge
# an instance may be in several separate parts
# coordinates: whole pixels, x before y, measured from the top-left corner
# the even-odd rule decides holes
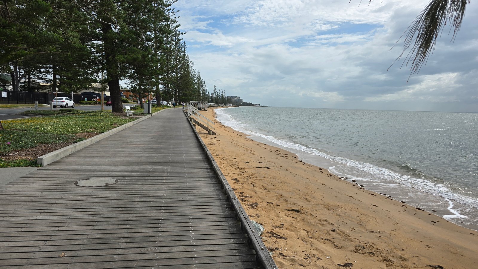
[[[326,153],[324,150],[316,150],[305,144],[278,139],[276,134],[271,132],[264,134],[254,131],[250,127],[242,126],[240,122],[238,124],[237,120],[230,121],[227,116],[228,112],[225,112],[225,110],[219,109],[215,112],[221,121],[225,120],[228,122],[227,124],[232,124],[231,128],[247,134],[248,138],[252,140],[292,152],[296,154],[299,160],[326,168],[329,172],[350,183],[359,185],[376,194],[390,196],[394,200],[413,207],[419,207],[458,226],[478,231],[478,209],[476,208],[478,199],[454,193],[453,186],[447,186],[444,183],[445,181],[437,182],[433,176],[428,178],[415,177],[413,173],[396,170],[398,167],[387,166],[384,163],[381,165],[372,164],[368,161],[360,161],[360,157],[358,161],[357,159]],[[225,115],[226,117],[224,117]]]

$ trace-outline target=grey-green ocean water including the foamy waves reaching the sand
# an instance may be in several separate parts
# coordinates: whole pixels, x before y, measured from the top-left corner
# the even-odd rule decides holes
[[[478,114],[276,107],[216,113],[254,140],[478,230]]]

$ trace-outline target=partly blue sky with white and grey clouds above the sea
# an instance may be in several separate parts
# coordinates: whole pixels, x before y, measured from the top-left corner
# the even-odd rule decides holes
[[[209,91],[216,85],[273,107],[478,111],[477,1],[455,41],[446,27],[410,79],[410,66],[393,62],[428,0],[359,3],[178,0],[173,7]]]

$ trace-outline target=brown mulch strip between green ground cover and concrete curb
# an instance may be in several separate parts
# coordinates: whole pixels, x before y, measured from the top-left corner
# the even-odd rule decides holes
[[[98,135],[98,133],[79,133],[76,134],[76,137],[68,142],[62,142],[58,144],[42,144],[38,145],[33,148],[19,150],[19,151],[12,151],[8,155],[0,155],[0,158],[5,161],[13,161],[13,160],[20,160],[26,159],[30,161],[36,160],[36,158],[45,155],[46,153],[50,153],[66,146],[72,145],[75,143],[75,140],[78,138],[85,138],[88,139],[90,137],[94,137]]]

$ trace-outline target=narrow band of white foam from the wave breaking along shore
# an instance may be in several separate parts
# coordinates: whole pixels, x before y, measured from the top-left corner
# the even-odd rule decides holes
[[[264,138],[266,140],[271,141],[272,143],[275,143],[275,144],[280,145],[280,146],[285,147],[285,148],[304,151],[304,152],[307,152],[307,153],[310,153],[310,154],[315,154],[315,155],[324,157],[324,158],[326,158],[328,160],[331,160],[331,161],[336,161],[336,162],[339,162],[339,163],[346,164],[348,166],[355,167],[362,172],[366,172],[366,173],[370,174],[372,176],[372,178],[387,179],[388,181],[392,181],[392,182],[399,183],[399,184],[402,184],[402,185],[405,185],[405,186],[408,186],[408,187],[412,187],[412,188],[415,188],[417,190],[423,191],[425,193],[434,194],[436,196],[443,197],[443,198],[445,198],[449,201],[451,201],[451,200],[456,201],[459,204],[478,209],[478,199],[477,198],[468,197],[468,196],[462,195],[462,194],[456,194],[442,183],[433,183],[433,182],[430,182],[429,180],[426,180],[425,178],[413,178],[411,176],[402,175],[400,173],[393,172],[389,169],[381,168],[381,167],[378,167],[376,165],[366,163],[366,162],[354,161],[354,160],[350,160],[350,159],[339,157],[339,156],[331,156],[331,155],[328,155],[324,152],[318,151],[318,150],[313,149],[313,148],[308,147],[308,146],[304,146],[304,145],[300,145],[300,144],[292,143],[292,142],[288,142],[288,141],[279,140],[279,139],[274,138],[273,136],[268,136],[268,135],[261,134],[257,131],[251,130],[251,128],[249,126],[247,126],[247,125],[239,122],[235,118],[233,118],[231,115],[226,113],[226,111],[224,111],[225,109],[230,109],[230,108],[216,109],[216,113],[217,113],[216,118],[220,122],[225,124],[226,126],[229,126],[232,129],[235,129],[237,131],[243,132],[243,133],[251,135],[251,136]],[[330,169],[330,168],[328,168],[328,169]],[[352,178],[354,176],[353,175],[348,175],[348,177]],[[369,180],[371,180],[371,179],[369,179]],[[451,210],[453,210],[453,209],[451,209]],[[450,210],[450,212],[452,212],[454,214],[454,216],[456,216],[456,217],[461,216],[461,215],[459,215],[458,212],[456,212],[456,211],[453,212],[451,210]]]

